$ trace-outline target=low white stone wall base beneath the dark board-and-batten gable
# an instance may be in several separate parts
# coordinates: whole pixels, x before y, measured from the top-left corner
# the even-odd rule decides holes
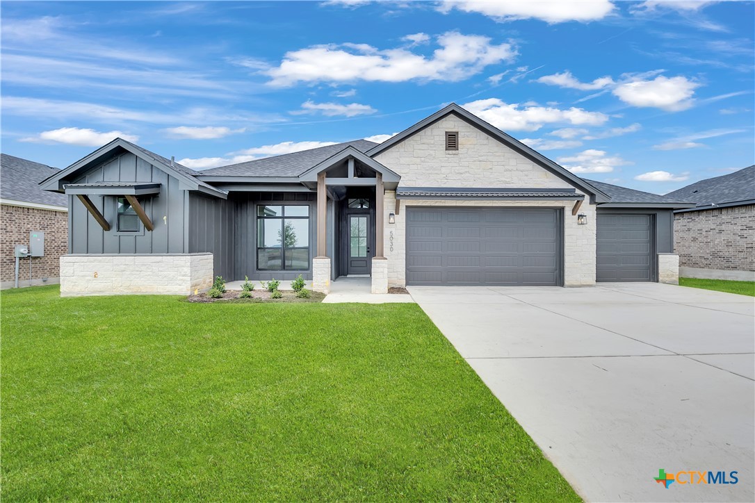
[[[63,255],[60,296],[189,295],[212,286],[212,253]]]

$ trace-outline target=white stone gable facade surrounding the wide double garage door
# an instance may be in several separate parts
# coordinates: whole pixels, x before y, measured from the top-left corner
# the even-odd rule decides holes
[[[445,131],[458,131],[458,151],[445,150]],[[456,115],[448,115],[414,136],[375,156],[401,175],[402,187],[470,187],[516,189],[573,188],[518,152],[509,149],[482,130]],[[582,193],[579,190],[578,193]],[[384,239],[388,259],[388,286],[406,285],[406,207],[560,207],[564,228],[564,284],[567,287],[595,284],[596,212],[585,197],[579,213],[587,216],[578,225],[572,215],[575,201],[400,201],[396,223],[388,214],[396,212],[396,192],[385,194]]]

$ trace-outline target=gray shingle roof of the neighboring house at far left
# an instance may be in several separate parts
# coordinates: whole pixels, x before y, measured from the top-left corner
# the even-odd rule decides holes
[[[66,195],[42,190],[38,185],[48,176],[60,172],[57,167],[8,154],[0,154],[0,167],[0,198],[68,207]]]

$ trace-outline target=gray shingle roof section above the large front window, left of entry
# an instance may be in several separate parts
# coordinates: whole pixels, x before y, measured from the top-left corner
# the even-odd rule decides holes
[[[354,140],[317,149],[214,167],[210,170],[202,170],[201,173],[197,174],[199,176],[299,176],[348,146],[353,146],[360,152],[366,152],[376,145],[377,143],[368,140]]]

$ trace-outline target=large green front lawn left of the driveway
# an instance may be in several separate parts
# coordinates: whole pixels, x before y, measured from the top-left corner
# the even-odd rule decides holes
[[[416,305],[54,286],[2,293],[2,498],[578,500]]]

